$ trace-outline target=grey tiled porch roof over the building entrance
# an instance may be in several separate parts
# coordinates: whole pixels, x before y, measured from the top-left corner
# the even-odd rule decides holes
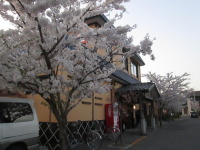
[[[152,82],[146,83],[134,83],[128,86],[120,87],[116,90],[120,94],[129,94],[129,93],[143,93],[148,99],[160,98],[160,93],[157,90],[157,87]]]

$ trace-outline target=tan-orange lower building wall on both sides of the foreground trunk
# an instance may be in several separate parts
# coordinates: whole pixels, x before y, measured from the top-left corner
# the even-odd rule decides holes
[[[94,93],[92,98],[82,100],[69,112],[68,121],[105,120],[105,104],[115,101],[115,89],[120,86],[122,86],[120,83],[115,83],[114,88],[107,93]],[[49,105],[42,97],[39,95],[28,95],[28,98],[35,101],[34,104],[40,122],[57,122]]]

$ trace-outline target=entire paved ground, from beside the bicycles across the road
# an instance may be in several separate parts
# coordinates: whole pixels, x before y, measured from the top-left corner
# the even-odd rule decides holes
[[[123,145],[114,145],[104,138],[100,150],[200,150],[200,118],[180,118],[155,130],[148,128],[147,136],[138,131],[126,130],[122,133]],[[89,150],[80,144],[74,150]]]

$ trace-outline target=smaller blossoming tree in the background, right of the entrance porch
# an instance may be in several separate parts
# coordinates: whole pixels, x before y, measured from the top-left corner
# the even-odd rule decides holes
[[[156,84],[161,98],[158,99],[160,108],[160,125],[162,125],[163,109],[168,111],[180,112],[182,104],[192,89],[189,88],[189,74],[184,73],[180,76],[173,73],[167,73],[165,76],[149,72],[145,74],[149,81]]]

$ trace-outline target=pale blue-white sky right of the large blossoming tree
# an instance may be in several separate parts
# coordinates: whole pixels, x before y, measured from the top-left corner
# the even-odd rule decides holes
[[[117,25],[134,25],[134,43],[148,33],[155,61],[142,57],[141,73],[190,74],[190,88],[200,91],[200,0],[131,0]],[[145,81],[143,78],[142,81]]]

